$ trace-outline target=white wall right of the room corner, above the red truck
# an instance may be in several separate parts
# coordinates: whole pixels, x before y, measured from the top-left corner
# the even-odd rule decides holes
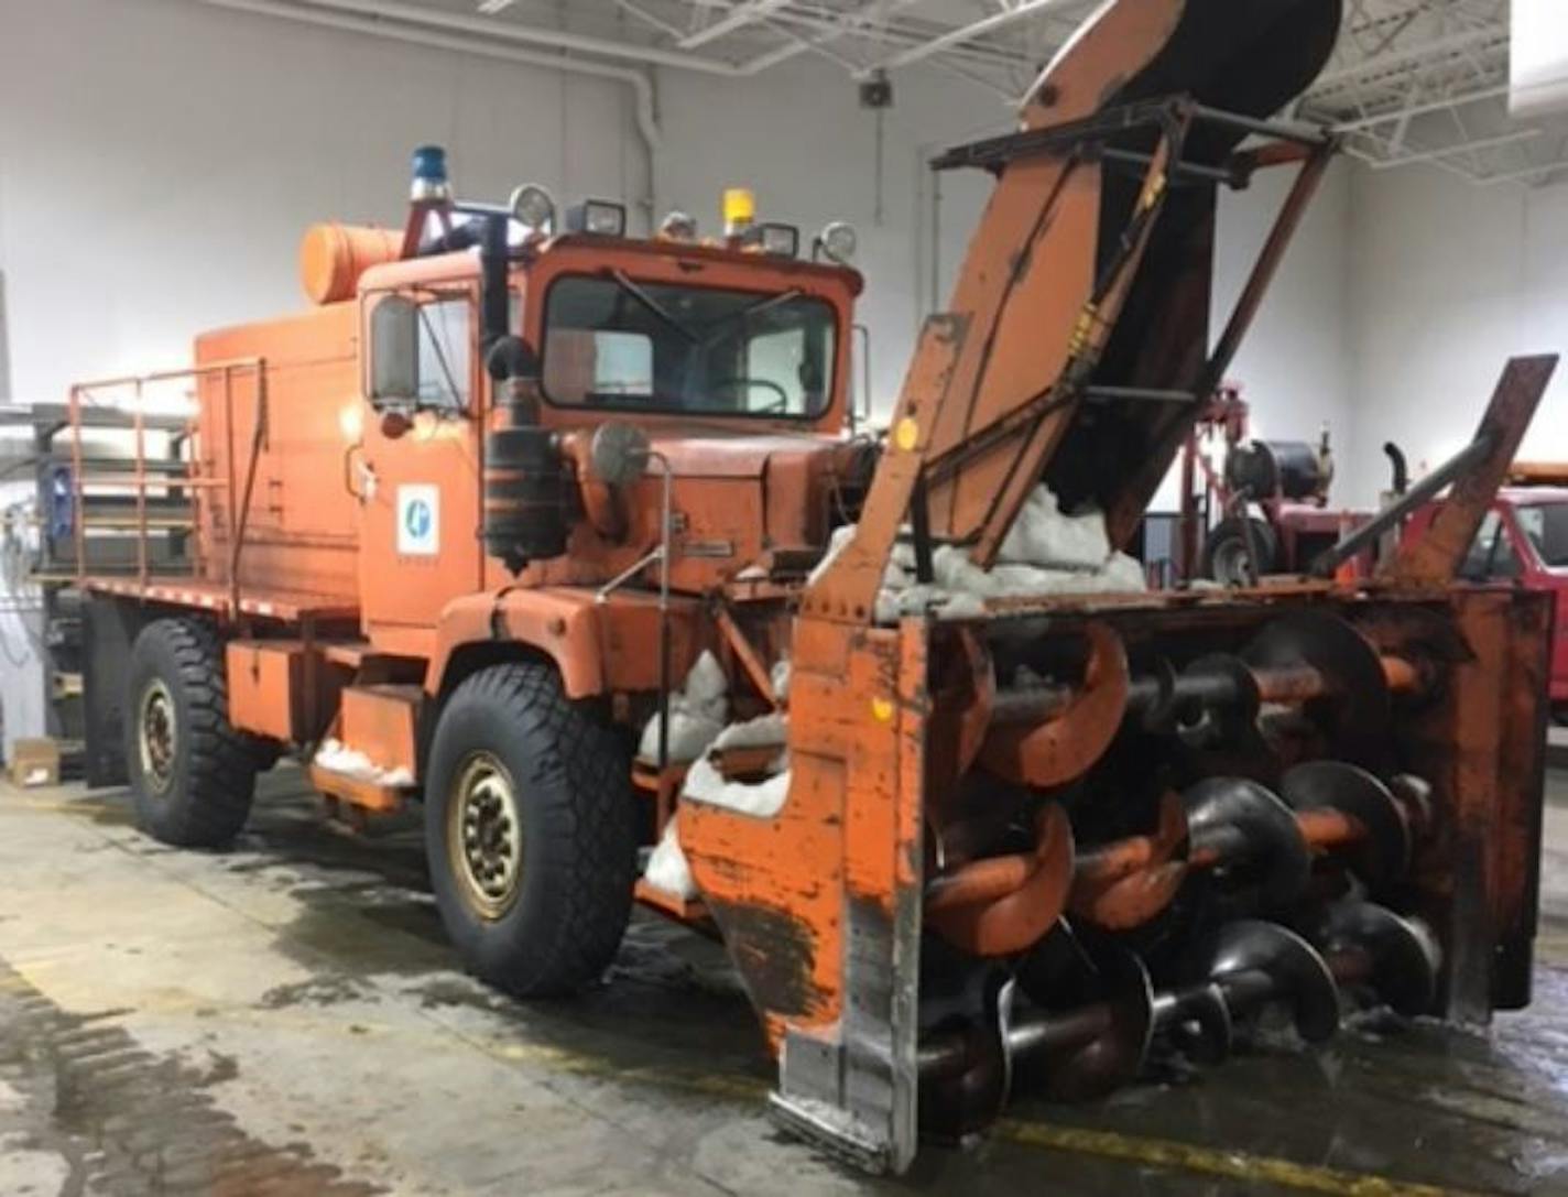
[[[1510,355],[1568,350],[1568,188],[1359,168],[1352,202],[1350,475],[1372,502],[1385,441],[1413,471],[1436,466],[1474,435]],[[1523,453],[1568,460],[1568,369]]]

